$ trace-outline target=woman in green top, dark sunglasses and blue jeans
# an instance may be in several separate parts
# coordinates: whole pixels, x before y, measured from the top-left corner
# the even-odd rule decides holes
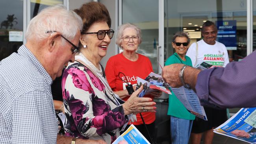
[[[192,66],[191,59],[186,56],[190,39],[184,32],[177,32],[173,36],[173,48],[175,53],[171,55],[165,65],[182,63]],[[187,144],[195,116],[187,111],[184,105],[176,98],[175,94],[169,95],[168,115],[171,116],[171,138],[172,144]]]

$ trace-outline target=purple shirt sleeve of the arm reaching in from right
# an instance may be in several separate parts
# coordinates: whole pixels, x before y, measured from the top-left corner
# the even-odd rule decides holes
[[[196,92],[204,106],[256,107],[256,51],[225,68],[211,68],[198,74]]]

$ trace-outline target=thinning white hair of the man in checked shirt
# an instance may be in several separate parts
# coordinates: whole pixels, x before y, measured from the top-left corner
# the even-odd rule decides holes
[[[67,10],[63,5],[50,6],[32,18],[26,31],[26,39],[42,41],[52,32],[59,32],[72,40],[78,30],[82,30],[83,21],[75,12]],[[62,38],[62,37],[61,37]],[[62,38],[62,44],[65,40]]]

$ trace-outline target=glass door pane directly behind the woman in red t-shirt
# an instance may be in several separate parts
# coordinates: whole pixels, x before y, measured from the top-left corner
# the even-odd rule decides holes
[[[142,42],[137,53],[150,59],[155,73],[160,72],[158,61],[161,56],[158,7],[157,0],[122,0],[121,23],[130,22],[141,28]]]

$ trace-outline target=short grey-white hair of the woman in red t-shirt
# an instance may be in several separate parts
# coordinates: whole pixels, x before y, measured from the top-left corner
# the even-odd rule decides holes
[[[120,47],[121,47],[121,42],[122,42],[122,37],[123,37],[123,32],[126,28],[133,28],[134,30],[137,31],[137,36],[139,36],[139,44],[141,44],[141,29],[139,27],[137,27],[135,24],[131,24],[131,23],[126,23],[126,24],[122,24],[121,26],[118,27],[117,30],[117,37],[115,40],[115,43]]]

